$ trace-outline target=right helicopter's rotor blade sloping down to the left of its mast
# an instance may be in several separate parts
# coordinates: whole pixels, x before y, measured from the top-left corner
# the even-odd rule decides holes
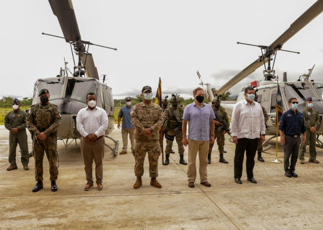
[[[264,59],[265,63],[268,62],[268,58]],[[229,88],[237,84],[239,81],[243,80],[245,77],[247,77],[249,74],[253,73],[257,68],[259,68],[261,65],[264,64],[263,59],[258,58],[254,62],[252,62],[250,65],[248,65],[244,70],[242,70],[240,73],[238,73],[236,76],[231,78],[226,84],[224,84],[222,87],[220,87],[216,94],[223,94],[225,93]]]

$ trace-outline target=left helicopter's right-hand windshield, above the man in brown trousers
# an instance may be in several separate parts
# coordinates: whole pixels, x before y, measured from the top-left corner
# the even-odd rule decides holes
[[[65,98],[77,101],[86,101],[86,95],[94,93],[97,95],[96,83],[89,80],[69,79],[66,86]]]

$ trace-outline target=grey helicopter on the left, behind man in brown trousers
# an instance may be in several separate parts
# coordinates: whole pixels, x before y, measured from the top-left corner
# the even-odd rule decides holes
[[[97,97],[97,106],[106,110],[108,115],[108,128],[105,137],[114,142],[114,147],[106,144],[111,150],[111,154],[116,155],[119,142],[108,136],[114,128],[114,106],[112,88],[105,81],[99,81],[97,68],[95,67],[93,56],[89,53],[90,45],[96,45],[107,49],[117,50],[103,45],[94,44],[81,39],[76,16],[71,0],[49,0],[50,7],[57,17],[60,28],[62,28],[64,37],[42,33],[53,37],[63,38],[70,44],[74,62],[73,73],[67,67],[60,67],[59,75],[51,78],[38,79],[34,84],[32,104],[39,103],[38,92],[47,88],[50,92],[50,103],[58,106],[62,114],[61,125],[57,129],[57,139],[62,140],[65,147],[69,146],[74,140],[82,137],[76,129],[76,116],[80,109],[87,106],[87,93],[95,93]],[[75,64],[72,46],[78,57],[78,63]],[[71,76],[68,75],[71,74]],[[66,141],[64,141],[66,140]],[[70,142],[69,142],[70,140]]]

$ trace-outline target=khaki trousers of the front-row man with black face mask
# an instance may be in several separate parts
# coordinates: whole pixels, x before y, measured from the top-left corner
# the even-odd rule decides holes
[[[208,151],[210,141],[188,140],[188,167],[187,177],[189,182],[195,182],[196,179],[196,155],[198,152],[199,159],[199,177],[201,182],[208,181]]]

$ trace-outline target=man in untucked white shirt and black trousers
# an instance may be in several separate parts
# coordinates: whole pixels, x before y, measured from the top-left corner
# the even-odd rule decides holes
[[[231,130],[233,143],[235,143],[234,154],[234,179],[241,184],[244,155],[247,156],[247,180],[257,183],[253,178],[253,167],[255,165],[255,155],[260,142],[265,141],[265,119],[263,109],[260,104],[253,101],[255,91],[248,86],[245,89],[245,99],[236,103],[233,107],[231,118]]]

